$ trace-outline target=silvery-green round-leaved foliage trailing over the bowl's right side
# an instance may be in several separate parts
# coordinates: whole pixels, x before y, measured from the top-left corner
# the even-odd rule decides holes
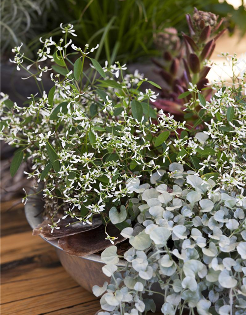
[[[170,171],[176,167],[171,164]],[[121,232],[132,246],[123,257],[116,246],[101,254],[103,273],[112,278],[93,287],[96,296],[103,294],[98,315],[155,312],[148,293],[163,296],[164,315],[185,309],[199,315],[245,314],[246,197],[215,191],[213,180],[193,173],[188,172],[184,188],[128,182],[138,194],[131,201],[138,223]],[[152,182],[158,178],[154,174]],[[121,221],[121,214],[115,216]],[[124,267],[120,258],[127,262]]]

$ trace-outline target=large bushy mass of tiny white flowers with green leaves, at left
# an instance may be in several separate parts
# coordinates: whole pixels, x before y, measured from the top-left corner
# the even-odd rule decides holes
[[[74,35],[71,25],[61,25],[61,28],[66,36]],[[27,106],[13,104],[7,95],[2,95],[0,139],[22,148],[25,158],[31,162],[31,170],[25,173],[28,178],[45,182],[45,198],[54,199],[54,203],[60,200],[58,208],[62,207],[69,214],[75,210],[77,215],[81,212],[86,221],[94,213],[103,212],[106,206],[119,205],[128,197],[125,183],[129,178],[160,168],[155,160],[162,161],[165,154],[150,152],[150,148],[153,136],[166,128],[167,122],[175,130],[184,126],[163,113],[159,115],[158,124],[152,122],[156,111],[151,108],[150,100],[156,95],[150,89],[145,94],[138,91],[137,85],[143,77],[137,71],[136,77],[123,76],[126,67],[120,63],[109,69],[101,68],[106,87],[94,89],[92,82],[92,86],[81,91],[83,69],[80,68],[76,80],[78,69],[76,63],[73,69],[67,68],[66,49],[71,45],[84,59],[89,58],[88,45],[82,50],[71,40],[67,41],[67,37],[58,44],[52,38],[43,44],[36,63],[47,58],[54,60],[61,74],[55,74],[55,66],[53,69],[38,64],[38,72],[29,78],[41,79],[42,73],[50,70],[54,87],[49,93],[43,91],[41,97],[31,95]],[[55,53],[51,52],[52,48]],[[20,49],[15,49],[18,56]],[[29,71],[31,65],[23,67]],[[97,63],[92,67],[98,70]],[[115,81],[114,77],[118,78],[120,72],[122,79]],[[138,100],[144,100],[145,106]],[[132,115],[132,103],[136,115]]]

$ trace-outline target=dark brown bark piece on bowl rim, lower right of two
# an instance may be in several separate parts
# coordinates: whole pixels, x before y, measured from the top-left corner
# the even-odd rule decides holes
[[[125,240],[113,224],[107,225],[106,232],[113,238],[115,245]],[[112,244],[105,236],[105,226],[100,225],[83,233],[60,238],[58,246],[69,255],[83,257],[110,247]]]

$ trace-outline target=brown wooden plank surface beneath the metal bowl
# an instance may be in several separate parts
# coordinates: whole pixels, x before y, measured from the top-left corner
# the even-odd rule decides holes
[[[98,298],[65,272],[52,246],[31,235],[19,202],[0,204],[0,314],[94,315]]]

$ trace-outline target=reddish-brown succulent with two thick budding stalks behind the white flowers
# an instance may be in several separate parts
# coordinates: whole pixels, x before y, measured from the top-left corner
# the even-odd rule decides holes
[[[211,69],[209,59],[215,50],[216,40],[226,31],[218,32],[223,19],[211,12],[194,9],[193,15],[186,14],[189,35],[182,33],[181,43],[178,32],[173,28],[164,29],[155,34],[155,44],[162,51],[163,63],[153,62],[160,68],[157,73],[163,78],[164,86],[161,98],[154,106],[175,115],[184,117],[184,103],[190,100],[189,83],[197,86],[203,95],[209,97],[211,90],[207,75]],[[184,97],[181,97],[186,93]]]

